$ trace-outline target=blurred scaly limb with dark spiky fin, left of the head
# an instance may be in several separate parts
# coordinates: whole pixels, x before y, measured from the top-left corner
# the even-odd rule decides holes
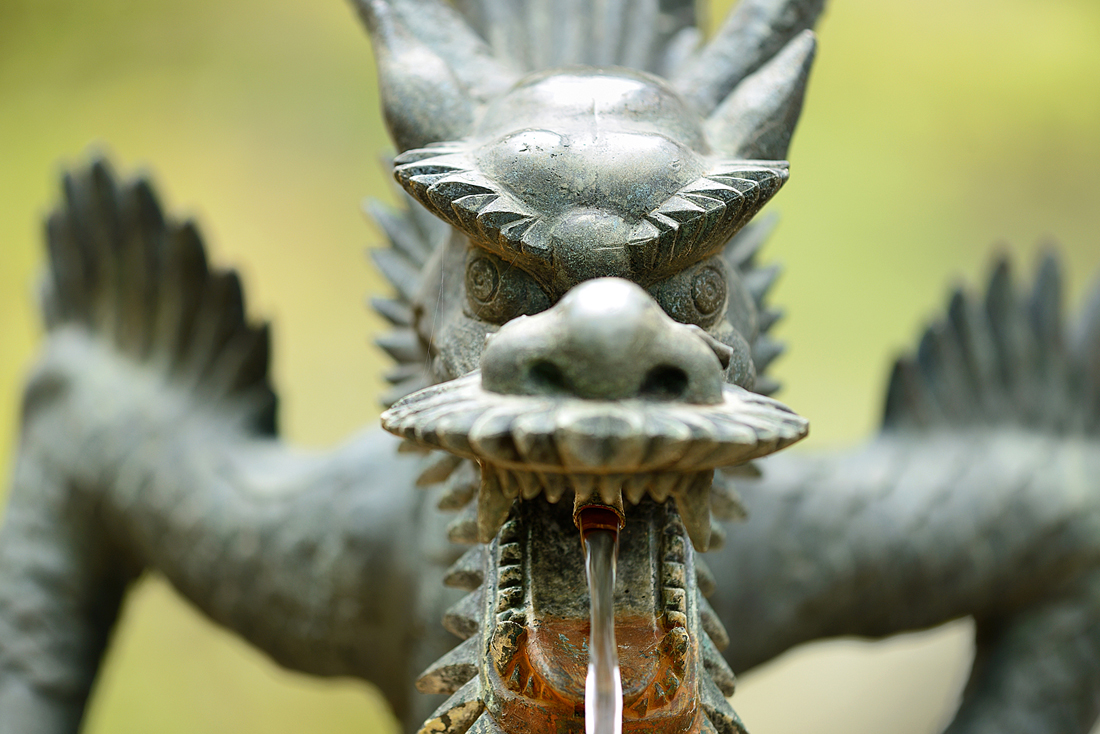
[[[364,678],[405,713],[436,654],[414,646],[420,461],[381,431],[323,454],[279,441],[266,327],[147,182],[67,176],[47,240],[0,532],[0,731],[77,730],[144,570],[277,662]]]

